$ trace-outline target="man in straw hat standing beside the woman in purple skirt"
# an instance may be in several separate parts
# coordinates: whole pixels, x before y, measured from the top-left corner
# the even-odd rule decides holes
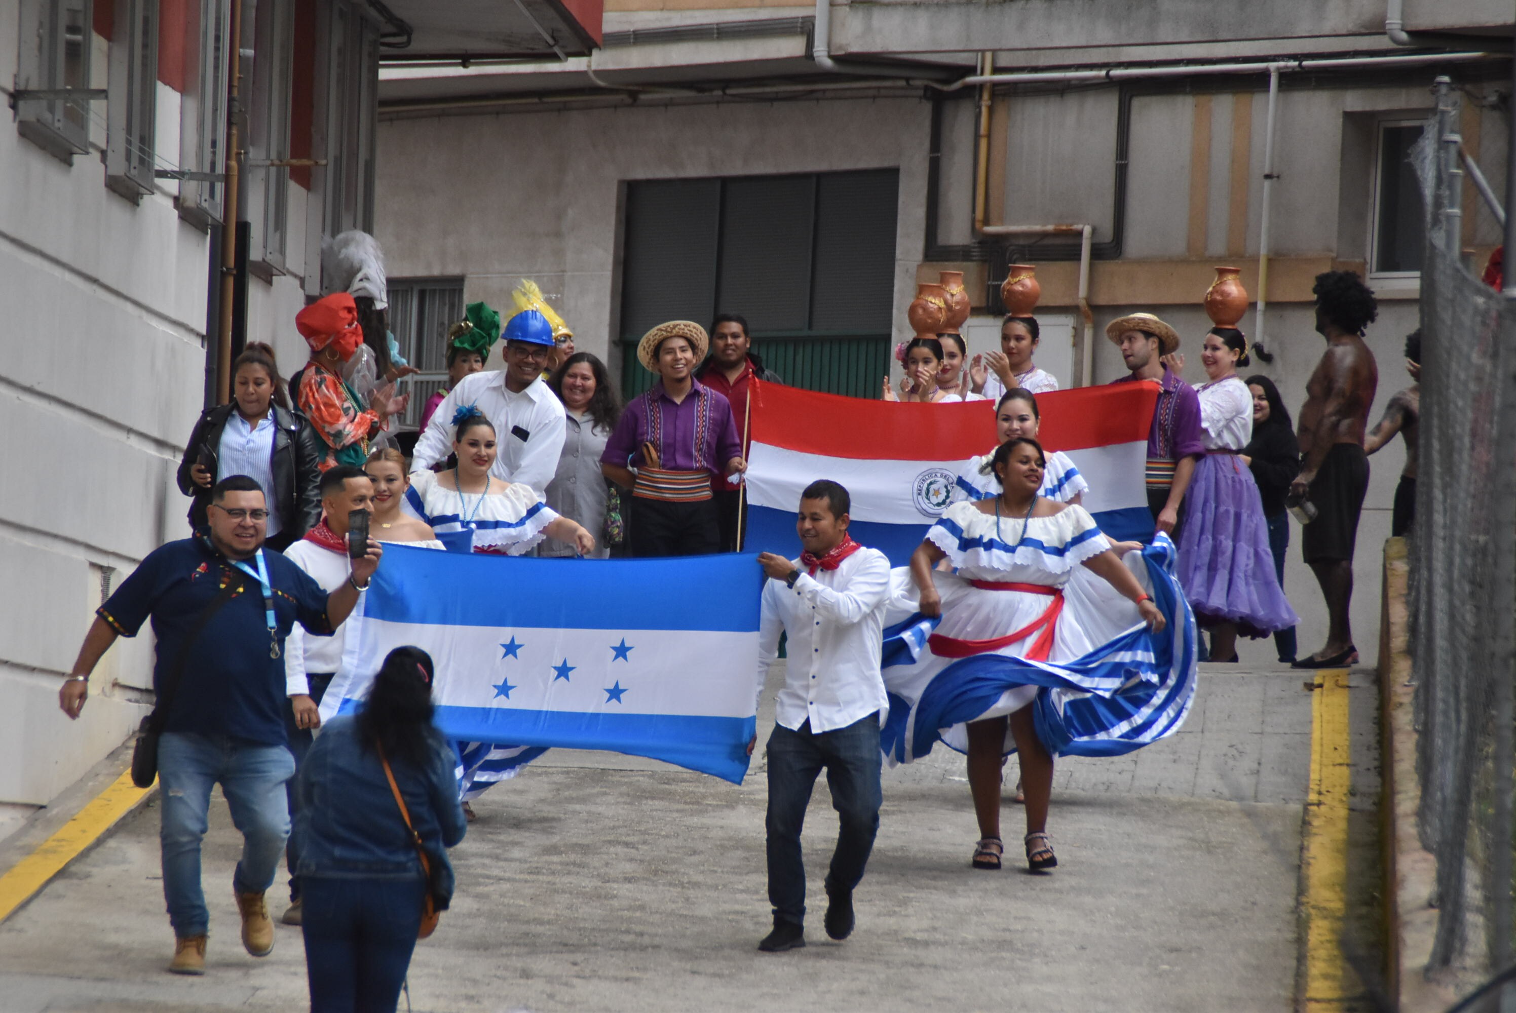
[[[1152,381],[1158,384],[1158,405],[1148,431],[1148,510],[1158,531],[1175,534],[1179,505],[1195,475],[1195,463],[1205,453],[1201,441],[1201,399],[1195,388],[1173,375],[1163,358],[1179,349],[1179,335],[1151,312],[1134,312],[1111,320],[1105,328],[1131,375],[1113,384]]]

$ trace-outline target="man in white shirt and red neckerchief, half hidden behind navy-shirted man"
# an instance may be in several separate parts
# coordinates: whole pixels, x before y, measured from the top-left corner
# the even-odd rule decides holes
[[[285,557],[309,573],[323,591],[332,591],[350,581],[353,573],[347,555],[347,514],[355,510],[373,513],[374,487],[362,469],[338,464],[321,473],[320,493],[321,523],[285,549]],[[285,734],[290,739],[290,752],[294,755],[296,773],[300,772],[305,754],[311,749],[312,729],[321,725],[321,714],[317,710],[321,696],[343,666],[346,631],[347,623],[343,622],[330,637],[317,637],[297,628],[285,638],[285,695],[290,698]],[[299,811],[294,778],[290,778],[285,790],[293,826]],[[300,924],[300,878],[296,875],[300,867],[300,837],[291,830],[285,846],[285,858],[290,861],[290,907],[282,917],[285,925]]]

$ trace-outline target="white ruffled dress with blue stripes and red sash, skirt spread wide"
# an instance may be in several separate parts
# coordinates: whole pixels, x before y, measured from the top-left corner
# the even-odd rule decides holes
[[[1182,723],[1195,693],[1195,620],[1172,576],[1167,537],[1123,560],[1169,623],[1158,635],[1104,581],[1101,590],[1081,579],[1081,593],[1064,596],[1082,563],[1110,547],[1082,506],[1025,519],[954,503],[926,538],[954,572],[932,572],[940,620],[916,611],[908,569],[891,573],[882,732],[890,763],[925,755],[937,740],[966,751],[967,722],[1034,702],[1038,737],[1055,755],[1128,752]],[[1005,752],[1013,749],[1007,734]]]

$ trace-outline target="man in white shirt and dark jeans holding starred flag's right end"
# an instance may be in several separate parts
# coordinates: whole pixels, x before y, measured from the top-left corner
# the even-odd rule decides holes
[[[769,902],[766,952],[805,945],[805,864],[800,826],[817,775],[826,769],[840,833],[826,875],[826,934],[854,930],[852,892],[879,830],[879,725],[888,713],[879,675],[890,561],[847,535],[847,490],[811,482],[800,493],[796,532],[805,552],[758,555],[769,575],[758,632],[758,692],[788,634],[784,688],[769,737]],[[752,752],[758,739],[749,743]]]

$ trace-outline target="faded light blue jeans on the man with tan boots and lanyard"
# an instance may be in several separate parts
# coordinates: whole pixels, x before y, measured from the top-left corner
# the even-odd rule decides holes
[[[232,889],[262,893],[274,881],[279,854],[290,837],[285,782],[293,775],[294,758],[283,746],[191,732],[164,732],[159,739],[164,819],[159,843],[164,899],[174,936],[205,936],[211,920],[200,889],[200,842],[208,828],[211,787],[220,782],[232,823],[243,833],[243,860],[232,875]]]

